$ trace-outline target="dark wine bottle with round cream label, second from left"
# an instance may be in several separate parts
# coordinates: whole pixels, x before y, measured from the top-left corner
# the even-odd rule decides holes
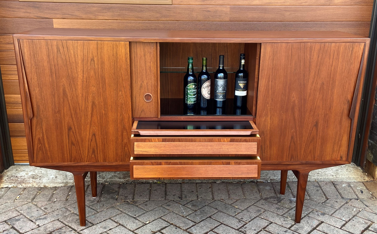
[[[198,102],[200,108],[208,107],[208,100],[211,98],[211,76],[207,71],[207,58],[202,58],[202,71],[198,75]]]

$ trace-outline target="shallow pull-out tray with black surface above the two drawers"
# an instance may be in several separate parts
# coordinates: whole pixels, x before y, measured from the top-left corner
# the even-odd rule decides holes
[[[134,121],[132,134],[141,136],[259,134],[253,121]]]

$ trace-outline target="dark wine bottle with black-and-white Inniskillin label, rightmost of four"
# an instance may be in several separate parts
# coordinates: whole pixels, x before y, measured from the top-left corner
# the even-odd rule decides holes
[[[239,60],[239,69],[236,72],[234,85],[234,109],[244,109],[247,101],[247,79],[249,75],[245,70],[245,54],[241,54]]]

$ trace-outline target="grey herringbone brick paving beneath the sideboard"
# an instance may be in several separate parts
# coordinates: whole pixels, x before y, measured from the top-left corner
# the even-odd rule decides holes
[[[3,234],[377,234],[377,182],[309,182],[302,221],[295,186],[279,183],[104,184],[86,187],[78,220],[73,186],[0,188]]]

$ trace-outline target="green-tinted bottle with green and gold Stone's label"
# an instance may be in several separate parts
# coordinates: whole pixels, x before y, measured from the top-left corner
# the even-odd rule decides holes
[[[186,115],[196,114],[197,84],[194,74],[193,57],[187,59],[187,72],[183,80],[184,92],[184,113]]]

